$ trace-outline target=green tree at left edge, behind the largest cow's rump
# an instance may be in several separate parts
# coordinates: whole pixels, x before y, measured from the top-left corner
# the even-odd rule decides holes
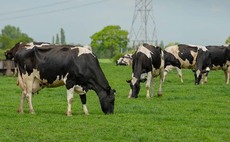
[[[0,34],[0,47],[9,49],[18,42],[31,42],[33,39],[27,34],[22,33],[18,27],[6,25]]]

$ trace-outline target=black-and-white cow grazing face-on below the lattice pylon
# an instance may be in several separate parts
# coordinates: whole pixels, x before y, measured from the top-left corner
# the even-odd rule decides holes
[[[139,46],[137,51],[133,55],[132,64],[132,79],[127,82],[130,83],[129,98],[137,98],[140,91],[141,74],[147,73],[146,82],[146,97],[150,98],[154,95],[154,77],[160,75],[160,85],[158,90],[158,96],[162,95],[162,83],[163,83],[163,71],[164,71],[164,54],[160,47],[154,47],[152,45],[143,44]],[[151,89],[151,96],[150,91]]]

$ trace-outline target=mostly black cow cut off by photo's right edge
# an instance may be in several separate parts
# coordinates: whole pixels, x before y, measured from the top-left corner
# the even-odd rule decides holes
[[[223,70],[225,83],[229,84],[230,76],[230,45],[228,46],[206,46],[211,54],[211,70]],[[205,77],[207,82],[207,76]]]

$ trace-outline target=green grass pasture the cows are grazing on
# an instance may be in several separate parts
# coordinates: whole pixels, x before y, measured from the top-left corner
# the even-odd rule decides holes
[[[20,89],[16,77],[0,76],[0,141],[230,141],[230,85],[223,71],[212,71],[208,83],[194,85],[191,70],[176,71],[163,84],[163,96],[146,99],[144,84],[139,98],[128,99],[131,66],[101,60],[101,67],[115,88],[115,113],[104,115],[98,97],[87,94],[90,115],[83,115],[75,94],[72,117],[65,115],[65,87],[45,88],[33,96],[36,114],[18,114]],[[158,78],[156,79],[158,86]],[[155,88],[156,88],[155,87]]]

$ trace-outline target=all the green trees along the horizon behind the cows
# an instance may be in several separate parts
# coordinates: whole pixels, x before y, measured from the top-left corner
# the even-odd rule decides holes
[[[131,49],[128,47],[128,34],[128,31],[121,29],[118,25],[109,25],[90,36],[90,45],[93,48],[93,52],[99,58],[112,58],[120,54],[121,51]],[[18,42],[32,41],[34,41],[34,39],[29,37],[26,33],[23,33],[19,27],[6,25],[1,30],[0,49],[7,50],[12,48]],[[230,36],[226,39],[225,43],[230,44]],[[63,28],[60,29],[60,34],[57,33],[52,37],[52,44],[67,44]],[[164,48],[163,41],[160,41],[159,44],[158,41],[156,41],[154,44]],[[168,45],[171,44],[175,43],[169,43]]]

